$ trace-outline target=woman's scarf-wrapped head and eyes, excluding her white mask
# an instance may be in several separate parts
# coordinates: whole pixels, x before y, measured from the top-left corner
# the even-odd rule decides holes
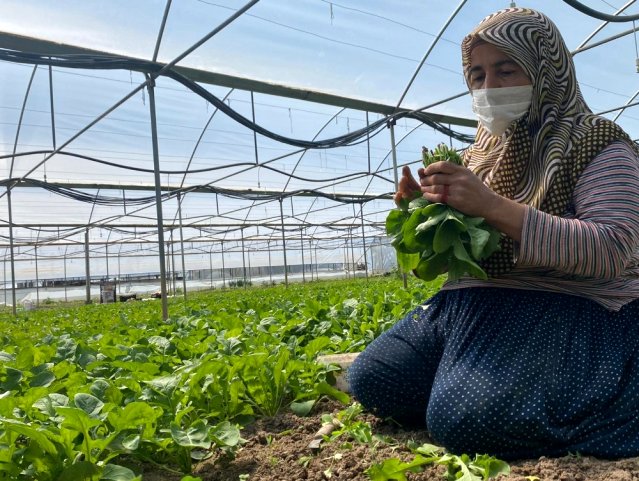
[[[482,20],[462,42],[462,66],[471,90],[531,83],[533,132],[565,115],[589,112],[559,30],[535,10],[508,8]]]

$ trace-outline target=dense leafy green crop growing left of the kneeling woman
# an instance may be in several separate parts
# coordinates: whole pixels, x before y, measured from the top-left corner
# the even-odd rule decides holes
[[[241,428],[321,396],[347,401],[318,355],[353,352],[438,286],[395,278],[238,289],[25,312],[0,320],[0,479],[182,473]]]

